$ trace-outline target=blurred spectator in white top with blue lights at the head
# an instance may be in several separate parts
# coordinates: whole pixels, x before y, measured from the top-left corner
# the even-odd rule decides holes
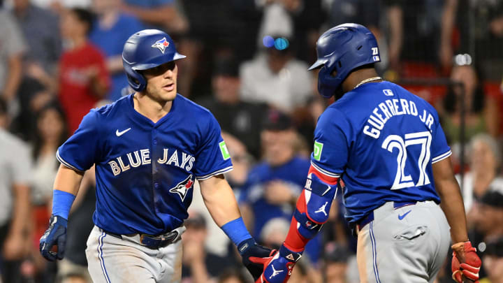
[[[269,35],[271,42],[284,36]],[[280,42],[277,46],[259,52],[254,59],[242,64],[241,97],[243,101],[268,103],[293,113],[294,108],[303,106],[311,96],[312,77],[307,64],[293,58],[291,46],[288,46],[292,44],[291,38],[280,38],[277,42]]]

